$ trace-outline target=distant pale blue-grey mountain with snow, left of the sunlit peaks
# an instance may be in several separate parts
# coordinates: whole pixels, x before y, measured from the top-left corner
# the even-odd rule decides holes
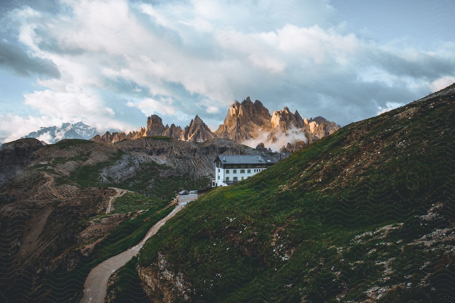
[[[63,123],[61,127],[41,127],[40,130],[31,132],[22,138],[35,138],[48,144],[54,144],[63,139],[91,139],[97,135],[96,128],[91,127],[82,121],[77,123]],[[22,139],[21,138],[21,139]]]

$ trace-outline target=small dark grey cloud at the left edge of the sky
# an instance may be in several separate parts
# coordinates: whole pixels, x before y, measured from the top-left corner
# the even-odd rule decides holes
[[[60,78],[60,71],[54,62],[28,55],[22,48],[6,40],[0,40],[0,68],[11,70],[15,74],[40,78]]]

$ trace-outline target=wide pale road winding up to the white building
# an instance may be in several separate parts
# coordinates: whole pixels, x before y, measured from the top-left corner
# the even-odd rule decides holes
[[[179,199],[179,202],[189,202],[197,199],[197,195],[187,195],[187,197],[182,197],[184,198]],[[84,295],[80,303],[104,303],[104,298],[106,297],[107,292],[107,282],[109,281],[111,274],[125,265],[125,263],[128,262],[132,257],[136,256],[147,239],[157,233],[158,229],[160,229],[168,219],[175,216],[175,214],[177,214],[184,207],[185,205],[177,205],[171,213],[169,213],[166,217],[158,221],[155,225],[152,226],[152,228],[150,228],[147,235],[142,239],[141,242],[124,251],[123,253],[107,259],[103,263],[93,268],[86,278],[86,282],[84,284]]]

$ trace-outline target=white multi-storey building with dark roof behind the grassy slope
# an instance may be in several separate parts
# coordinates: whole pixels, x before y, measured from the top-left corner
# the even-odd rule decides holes
[[[271,156],[219,154],[215,162],[215,179],[212,187],[227,186],[267,169],[275,163]]]

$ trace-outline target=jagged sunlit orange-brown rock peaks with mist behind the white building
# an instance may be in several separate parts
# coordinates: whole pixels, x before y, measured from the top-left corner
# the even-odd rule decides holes
[[[164,126],[156,114],[147,118],[146,128],[129,134],[110,133],[93,137],[92,141],[115,143],[123,139],[137,139],[142,136],[167,136],[183,141],[203,142],[213,138],[228,138],[240,144],[255,146],[259,143],[282,152],[294,152],[303,146],[333,134],[340,128],[335,122],[319,116],[303,119],[298,111],[292,113],[287,106],[282,110],[269,110],[259,100],[247,97],[242,103],[237,100],[227,110],[223,124],[215,132],[196,115],[184,129],[175,124]]]

